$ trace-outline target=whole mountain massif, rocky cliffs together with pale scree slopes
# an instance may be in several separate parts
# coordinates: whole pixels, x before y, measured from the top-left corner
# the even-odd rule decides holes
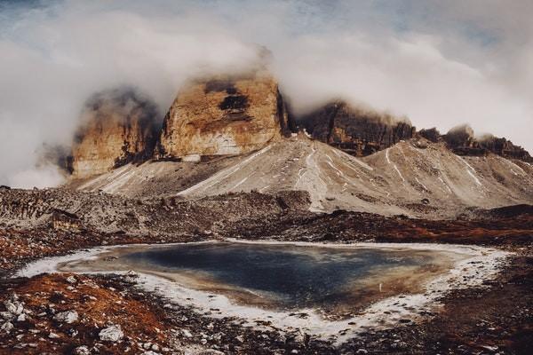
[[[154,106],[135,91],[96,95],[68,188],[184,200],[305,191],[317,212],[434,219],[533,201],[530,156],[505,138],[475,138],[466,125],[417,131],[342,101],[293,121],[262,69],[196,78],[161,130],[155,122]],[[297,124],[305,130],[294,133]]]

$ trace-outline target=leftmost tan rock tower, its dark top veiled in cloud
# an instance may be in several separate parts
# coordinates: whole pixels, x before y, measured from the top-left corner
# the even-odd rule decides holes
[[[73,175],[97,175],[149,158],[155,146],[155,117],[155,105],[135,91],[94,95],[84,108],[72,149]]]

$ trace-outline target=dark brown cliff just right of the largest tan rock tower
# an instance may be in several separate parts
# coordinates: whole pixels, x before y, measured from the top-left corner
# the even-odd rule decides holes
[[[313,138],[355,156],[369,155],[412,138],[416,131],[410,122],[398,122],[390,115],[363,111],[341,101],[298,121]]]

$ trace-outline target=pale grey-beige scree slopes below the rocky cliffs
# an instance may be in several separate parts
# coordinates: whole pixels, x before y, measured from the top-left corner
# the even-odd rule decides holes
[[[413,138],[362,159],[304,134],[283,138],[251,154],[211,162],[126,165],[71,187],[129,197],[303,190],[311,209],[346,209],[454,217],[472,207],[533,201],[533,166],[496,154],[459,156],[444,143]]]

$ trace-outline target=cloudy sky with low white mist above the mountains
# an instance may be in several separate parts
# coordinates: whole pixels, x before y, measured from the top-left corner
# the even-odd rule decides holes
[[[42,146],[71,143],[91,94],[130,85],[164,114],[258,45],[297,114],[346,99],[531,152],[532,16],[530,0],[0,0],[0,185],[60,184]]]

